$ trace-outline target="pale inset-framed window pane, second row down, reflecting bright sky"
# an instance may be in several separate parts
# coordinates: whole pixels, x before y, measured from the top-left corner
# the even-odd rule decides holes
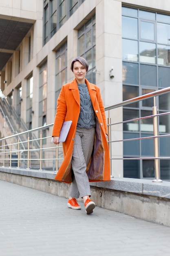
[[[154,41],[155,40],[155,23],[141,20],[140,25],[141,25],[141,29],[140,29],[141,39]]]

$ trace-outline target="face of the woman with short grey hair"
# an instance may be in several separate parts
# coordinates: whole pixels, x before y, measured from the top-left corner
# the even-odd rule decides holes
[[[86,69],[79,61],[73,64],[73,74],[77,83],[85,83]]]

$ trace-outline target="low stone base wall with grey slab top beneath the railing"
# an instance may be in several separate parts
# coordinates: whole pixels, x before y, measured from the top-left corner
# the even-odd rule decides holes
[[[55,174],[0,167],[0,180],[68,198],[70,184],[54,180]],[[99,207],[170,227],[170,182],[112,178],[109,182],[92,182],[91,193]]]

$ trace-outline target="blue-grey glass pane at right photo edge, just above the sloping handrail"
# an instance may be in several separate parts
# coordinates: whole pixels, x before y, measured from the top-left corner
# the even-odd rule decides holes
[[[159,81],[159,87],[170,86],[170,68],[169,67],[158,67],[158,81]]]

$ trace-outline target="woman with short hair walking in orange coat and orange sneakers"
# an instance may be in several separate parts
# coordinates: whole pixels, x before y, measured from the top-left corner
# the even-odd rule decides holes
[[[59,144],[63,122],[72,121],[63,142],[64,160],[55,179],[72,182],[69,208],[81,209],[76,200],[81,196],[86,213],[91,214],[95,203],[90,199],[89,181],[110,180],[106,116],[99,88],[85,79],[87,61],[82,57],[74,58],[71,70],[75,79],[62,86],[52,132],[54,144]]]

